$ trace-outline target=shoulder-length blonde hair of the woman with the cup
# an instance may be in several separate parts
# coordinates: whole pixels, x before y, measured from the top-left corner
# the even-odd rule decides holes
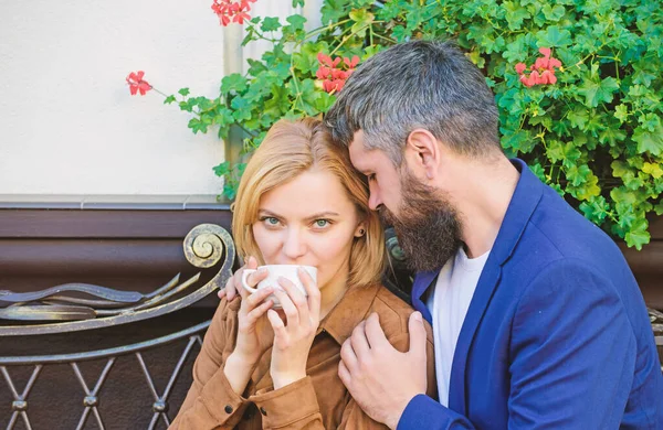
[[[365,287],[380,281],[385,264],[385,233],[377,214],[368,207],[368,189],[350,164],[347,150],[335,144],[325,125],[315,118],[280,120],[255,151],[240,181],[233,207],[232,234],[242,258],[264,259],[253,224],[262,195],[315,168],[333,173],[355,204],[366,234],[355,237],[350,251],[348,286]]]

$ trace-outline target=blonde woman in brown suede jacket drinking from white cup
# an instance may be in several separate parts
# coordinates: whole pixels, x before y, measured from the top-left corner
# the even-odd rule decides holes
[[[408,348],[412,309],[381,287],[382,227],[348,155],[316,119],[275,123],[246,165],[232,233],[248,268],[307,265],[307,295],[280,279],[222,298],[171,429],[378,429],[338,377],[340,346],[371,312]],[[241,271],[229,282],[241,286]],[[248,277],[255,286],[264,269]],[[282,309],[272,309],[274,294]],[[220,294],[223,297],[223,294]],[[428,387],[435,387],[429,329]],[[429,393],[431,395],[433,393]]]

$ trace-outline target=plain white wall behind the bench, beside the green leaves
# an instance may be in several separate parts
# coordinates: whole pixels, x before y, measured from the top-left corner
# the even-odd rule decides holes
[[[188,114],[125,83],[143,69],[164,93],[217,96],[242,68],[242,34],[211,3],[0,0],[0,194],[218,194],[215,133],[194,136]],[[292,12],[259,0],[252,17]]]

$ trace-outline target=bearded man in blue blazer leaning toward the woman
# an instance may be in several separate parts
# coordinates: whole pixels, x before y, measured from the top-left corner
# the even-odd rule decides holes
[[[457,49],[375,55],[326,121],[394,226],[434,331],[439,401],[423,395],[424,336],[399,353],[375,315],[354,331],[338,372],[368,415],[398,429],[663,429],[663,376],[627,262],[504,155],[493,94]]]

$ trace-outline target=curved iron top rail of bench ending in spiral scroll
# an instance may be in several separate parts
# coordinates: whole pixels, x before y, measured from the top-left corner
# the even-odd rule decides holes
[[[179,283],[178,273],[149,294],[86,283],[67,283],[31,293],[1,290],[0,319],[51,322],[1,325],[0,336],[65,333],[152,319],[196,303],[224,286],[232,276],[235,248],[223,227],[198,225],[187,234],[182,246],[187,260],[201,269],[213,267],[223,259],[219,272],[193,292],[182,295],[198,281],[200,272],[182,283]]]

